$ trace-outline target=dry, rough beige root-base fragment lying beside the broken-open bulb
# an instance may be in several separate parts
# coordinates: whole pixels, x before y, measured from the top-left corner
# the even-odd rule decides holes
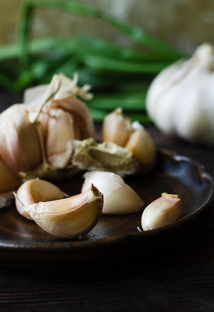
[[[97,143],[94,139],[74,140],[72,164],[88,171],[111,171],[121,176],[136,172],[133,153],[112,142]]]

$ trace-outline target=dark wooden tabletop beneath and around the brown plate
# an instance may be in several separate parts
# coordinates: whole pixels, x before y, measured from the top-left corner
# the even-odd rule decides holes
[[[1,92],[0,110],[20,101]],[[147,128],[157,147],[200,161],[214,177],[214,149]],[[158,254],[69,268],[0,267],[0,311],[214,311],[214,211],[190,237]]]

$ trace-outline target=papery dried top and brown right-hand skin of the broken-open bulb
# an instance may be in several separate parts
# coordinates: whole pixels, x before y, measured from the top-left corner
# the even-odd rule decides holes
[[[74,75],[74,79],[70,79],[63,74],[54,75],[49,85],[36,86],[25,90],[24,102],[29,103],[31,110],[35,111],[35,115],[39,106],[41,106],[41,111],[44,114],[48,114],[51,109],[61,109],[68,112],[73,118],[75,139],[95,138],[95,126],[90,110],[80,99],[90,100],[92,98],[92,94],[88,92],[91,86],[85,85],[80,88],[77,83],[77,75]],[[59,87],[57,88],[58,84]],[[52,90],[55,92],[43,105],[43,97],[48,90],[50,90],[50,94]],[[38,91],[41,94],[36,96]],[[40,120],[39,117],[38,120]],[[43,132],[45,132],[44,129]]]

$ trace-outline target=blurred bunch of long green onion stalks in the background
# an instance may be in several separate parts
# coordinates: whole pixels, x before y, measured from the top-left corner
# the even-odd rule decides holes
[[[117,46],[99,38],[30,39],[36,8],[56,8],[71,14],[100,19],[140,46]],[[34,0],[23,5],[14,44],[0,47],[0,87],[10,92],[47,84],[64,73],[91,84],[94,98],[88,105],[95,121],[117,107],[141,123],[150,122],[145,98],[152,79],[172,62],[187,57],[143,29],[133,27],[96,7],[66,0]],[[14,70],[15,68],[15,70]]]

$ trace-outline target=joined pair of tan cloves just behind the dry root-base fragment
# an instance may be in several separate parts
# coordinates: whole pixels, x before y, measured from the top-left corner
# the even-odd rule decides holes
[[[102,128],[102,141],[113,142],[133,153],[141,173],[149,171],[156,161],[156,146],[153,138],[137,121],[131,123],[117,108],[108,114]]]

